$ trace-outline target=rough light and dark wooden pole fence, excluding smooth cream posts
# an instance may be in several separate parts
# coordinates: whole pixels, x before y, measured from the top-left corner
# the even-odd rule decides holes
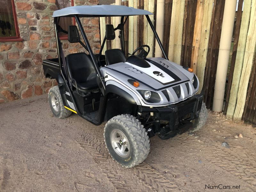
[[[226,83],[224,114],[234,121],[241,119],[256,124],[256,0],[239,0],[233,34],[230,69]],[[157,0],[122,1],[122,5],[145,9],[155,14],[150,19],[156,26]],[[244,3],[244,5],[243,5]],[[193,68],[199,79],[199,93],[205,91],[204,102],[212,108],[220,34],[225,0],[164,0],[163,41],[169,60]],[[163,13],[161,13],[163,14]],[[159,13],[160,15],[160,13]],[[105,24],[119,23],[117,18],[100,18],[100,39]],[[119,38],[107,41],[103,52],[116,48]],[[155,56],[155,37],[144,16],[130,16],[124,25],[125,54],[148,44]],[[159,55],[159,54],[158,54]]]

